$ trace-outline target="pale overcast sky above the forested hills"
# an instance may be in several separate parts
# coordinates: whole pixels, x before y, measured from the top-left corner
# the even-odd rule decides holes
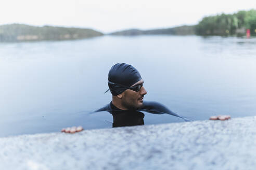
[[[92,28],[104,33],[196,24],[204,16],[256,9],[256,0],[1,0],[0,24]]]

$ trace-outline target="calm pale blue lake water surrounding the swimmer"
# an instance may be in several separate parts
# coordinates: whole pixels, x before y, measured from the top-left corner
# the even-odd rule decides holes
[[[112,127],[108,71],[129,63],[144,79],[144,101],[206,120],[256,115],[256,38],[103,36],[0,44],[0,136]],[[182,122],[145,113],[145,124]]]

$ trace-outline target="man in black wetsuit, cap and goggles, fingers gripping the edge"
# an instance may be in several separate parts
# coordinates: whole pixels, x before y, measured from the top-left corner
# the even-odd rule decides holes
[[[144,95],[147,94],[143,86],[144,80],[138,70],[132,65],[118,63],[111,67],[108,74],[108,87],[112,93],[112,101],[105,107],[96,110],[108,111],[113,116],[112,127],[143,125],[144,114],[140,111],[150,112],[152,114],[169,114],[180,117],[185,121],[189,119],[182,117],[164,105],[157,102],[144,102]],[[106,92],[107,92],[106,91]],[[105,92],[105,93],[106,93]],[[211,117],[211,120],[227,120],[228,116]],[[79,132],[81,127],[76,129],[63,129],[62,132]]]

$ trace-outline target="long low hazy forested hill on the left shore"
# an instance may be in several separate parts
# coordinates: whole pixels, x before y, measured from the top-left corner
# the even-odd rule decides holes
[[[30,26],[24,24],[0,25],[0,41],[68,40],[101,36],[92,29],[73,27]]]

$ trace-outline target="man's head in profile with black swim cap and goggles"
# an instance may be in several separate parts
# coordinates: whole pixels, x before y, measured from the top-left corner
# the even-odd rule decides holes
[[[143,105],[147,94],[143,79],[132,65],[118,63],[111,67],[108,74],[108,86],[112,93],[112,103],[120,109],[138,109]]]

